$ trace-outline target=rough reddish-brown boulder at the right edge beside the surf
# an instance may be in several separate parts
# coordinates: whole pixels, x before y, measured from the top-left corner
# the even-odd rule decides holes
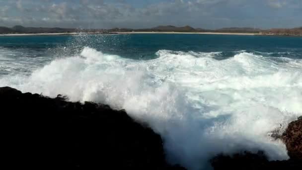
[[[302,119],[290,123],[282,139],[291,159],[302,162]]]

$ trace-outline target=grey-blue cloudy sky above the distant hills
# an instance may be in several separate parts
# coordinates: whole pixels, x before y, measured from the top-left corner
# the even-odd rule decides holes
[[[0,26],[302,26],[302,0],[0,0]]]

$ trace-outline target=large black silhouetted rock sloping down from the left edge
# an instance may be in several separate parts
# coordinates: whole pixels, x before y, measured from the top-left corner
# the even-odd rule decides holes
[[[10,168],[182,169],[161,137],[124,110],[0,88],[2,163]]]

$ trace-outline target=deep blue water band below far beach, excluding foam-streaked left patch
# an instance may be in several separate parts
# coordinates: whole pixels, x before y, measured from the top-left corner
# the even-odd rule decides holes
[[[70,55],[83,47],[133,59],[151,59],[158,50],[223,52],[222,59],[236,51],[267,52],[272,57],[302,58],[302,37],[132,34],[88,36],[12,36],[0,37],[0,47],[38,53]],[[67,47],[62,50],[62,48]]]

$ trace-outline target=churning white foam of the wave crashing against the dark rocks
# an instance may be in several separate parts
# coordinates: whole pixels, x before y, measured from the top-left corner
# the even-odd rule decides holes
[[[221,61],[213,58],[220,53],[156,54],[137,61],[85,47],[29,77],[3,77],[0,86],[125,108],[162,135],[171,163],[192,170],[208,168],[221,152],[261,149],[271,160],[288,158],[268,133],[302,115],[301,60],[278,63],[246,52]]]

